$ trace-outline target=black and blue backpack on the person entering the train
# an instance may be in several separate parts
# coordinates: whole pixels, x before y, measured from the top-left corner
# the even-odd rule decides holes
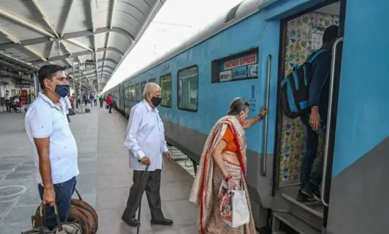
[[[323,52],[311,54],[303,65],[296,65],[293,71],[281,80],[281,103],[284,115],[296,118],[309,113],[309,84],[312,80],[311,64]]]

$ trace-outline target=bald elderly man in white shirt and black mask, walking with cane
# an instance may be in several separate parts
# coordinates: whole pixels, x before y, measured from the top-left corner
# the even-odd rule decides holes
[[[135,213],[139,207],[141,189],[146,190],[151,211],[152,225],[173,225],[173,221],[165,219],[161,209],[161,169],[164,167],[163,155],[172,160],[165,141],[164,124],[158,114],[157,107],[161,103],[161,87],[156,83],[148,83],[144,90],[144,100],[135,105],[130,112],[124,146],[129,149],[130,168],[133,172],[133,184],[127,200],[122,220],[136,227],[138,220]],[[144,184],[141,178],[146,168]]]

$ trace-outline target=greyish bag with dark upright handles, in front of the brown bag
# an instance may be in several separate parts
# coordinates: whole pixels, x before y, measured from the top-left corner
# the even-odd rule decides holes
[[[43,217],[44,212],[43,203],[38,207],[38,214],[36,216]],[[81,228],[81,221],[75,220],[73,222],[63,222],[61,223],[58,215],[57,205],[54,204],[54,213],[56,217],[57,226],[53,228],[53,230],[48,230],[43,226],[43,220],[39,219],[39,225],[34,227],[30,231],[21,232],[21,234],[83,234]]]

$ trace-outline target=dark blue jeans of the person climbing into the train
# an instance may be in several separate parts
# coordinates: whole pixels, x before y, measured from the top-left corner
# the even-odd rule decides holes
[[[305,126],[306,153],[301,163],[300,182],[301,188],[309,181],[316,187],[319,187],[323,176],[323,158],[320,159],[316,169],[312,171],[312,164],[317,156],[317,147],[319,138],[325,140],[325,125],[314,131],[309,125],[309,114],[300,117]]]

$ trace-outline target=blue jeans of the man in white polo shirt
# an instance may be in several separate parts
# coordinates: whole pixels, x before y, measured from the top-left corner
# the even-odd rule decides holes
[[[71,178],[60,184],[54,184],[55,202],[58,207],[59,219],[66,222],[69,216],[70,202],[74,189],[76,188],[76,177]],[[43,187],[38,185],[40,199],[43,199]],[[55,220],[54,208],[46,206],[46,228],[52,230],[57,225]]]

